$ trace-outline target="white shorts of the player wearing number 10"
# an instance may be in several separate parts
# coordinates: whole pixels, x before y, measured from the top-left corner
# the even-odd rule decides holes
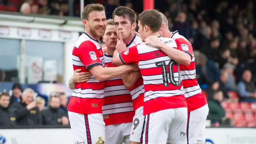
[[[146,115],[143,144],[187,144],[188,108],[161,110]]]

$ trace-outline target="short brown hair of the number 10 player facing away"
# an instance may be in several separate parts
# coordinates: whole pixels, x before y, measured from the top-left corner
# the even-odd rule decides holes
[[[147,25],[152,32],[158,32],[162,26],[162,17],[157,10],[145,10],[138,16],[142,27]]]

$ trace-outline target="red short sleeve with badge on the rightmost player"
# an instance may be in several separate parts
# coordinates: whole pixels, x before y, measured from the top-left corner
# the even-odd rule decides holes
[[[188,42],[187,40],[184,40],[183,38],[177,38],[177,39],[175,39],[175,42],[178,46],[178,50],[181,50],[181,51],[189,54],[191,57],[191,60],[192,60],[193,48],[192,48],[192,45],[190,44],[190,42]]]

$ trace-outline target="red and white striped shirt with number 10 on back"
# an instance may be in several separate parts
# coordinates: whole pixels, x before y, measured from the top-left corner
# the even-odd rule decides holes
[[[171,47],[172,38],[159,37]],[[138,64],[144,80],[144,115],[171,108],[187,107],[178,63],[157,48],[138,44],[120,53],[124,64]]]

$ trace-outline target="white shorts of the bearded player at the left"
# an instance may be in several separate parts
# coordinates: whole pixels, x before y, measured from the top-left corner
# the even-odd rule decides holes
[[[102,114],[68,112],[68,118],[74,144],[96,144],[106,140]]]

